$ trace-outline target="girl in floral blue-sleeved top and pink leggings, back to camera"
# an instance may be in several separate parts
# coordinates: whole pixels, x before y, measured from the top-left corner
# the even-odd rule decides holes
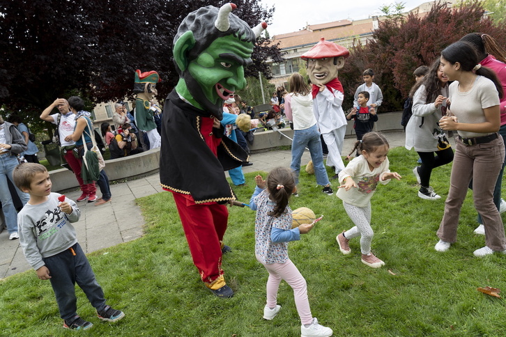
[[[296,307],[300,316],[300,334],[309,336],[332,336],[332,329],[318,324],[313,318],[307,300],[307,285],[304,276],[288,257],[288,242],[300,240],[300,234],[308,233],[314,224],[292,227],[289,198],[295,190],[295,179],[290,169],[277,167],[266,180],[255,177],[256,189],[250,200],[250,207],[256,210],[255,255],[269,272],[267,281],[267,304],[263,318],[275,318],[281,306],[277,304],[277,290],[282,280],[293,289]]]

